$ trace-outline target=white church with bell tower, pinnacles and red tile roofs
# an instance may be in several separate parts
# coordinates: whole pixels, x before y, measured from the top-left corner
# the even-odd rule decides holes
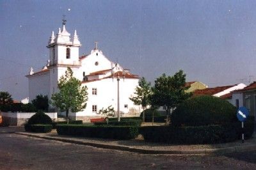
[[[65,29],[52,36],[48,42],[49,60],[47,65],[34,72],[31,68],[28,77],[29,102],[36,95],[47,95],[49,99],[53,93],[58,92],[58,80],[69,66],[74,72],[74,77],[87,86],[88,101],[86,109],[81,112],[72,112],[70,118],[88,121],[88,118],[99,115],[99,110],[106,109],[110,105],[115,111],[118,109],[118,82],[119,82],[119,108],[121,116],[132,116],[140,112],[140,106],[134,105],[129,97],[133,97],[136,86],[138,86],[138,75],[134,75],[122,68],[118,63],[109,61],[95,42],[95,49],[90,54],[79,57],[81,43],[76,30],[74,36]],[[119,80],[119,81],[118,81]],[[54,108],[51,108],[54,109]]]

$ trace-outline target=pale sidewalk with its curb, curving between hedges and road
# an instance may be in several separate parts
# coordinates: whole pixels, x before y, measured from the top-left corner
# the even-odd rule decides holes
[[[83,144],[86,146],[94,146],[98,148],[108,148],[113,150],[132,151],[144,154],[221,154],[236,151],[256,150],[256,138],[248,139],[241,143],[224,144],[191,144],[191,145],[174,145],[174,144],[158,144],[145,143],[142,137],[127,141],[116,141],[113,139],[98,139],[89,137],[70,137],[68,135],[58,135],[56,130],[52,130],[49,134],[37,134],[31,132],[15,132],[15,134],[27,135],[29,137],[38,137],[41,139],[49,139],[54,141],[62,141],[65,143]]]

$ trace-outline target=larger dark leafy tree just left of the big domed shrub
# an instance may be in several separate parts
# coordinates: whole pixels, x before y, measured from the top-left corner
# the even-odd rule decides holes
[[[177,107],[178,104],[191,97],[191,93],[186,93],[186,89],[189,87],[186,87],[185,84],[186,74],[182,70],[173,76],[163,74],[156,79],[154,88],[152,88],[151,105],[165,107],[166,122],[170,109]]]

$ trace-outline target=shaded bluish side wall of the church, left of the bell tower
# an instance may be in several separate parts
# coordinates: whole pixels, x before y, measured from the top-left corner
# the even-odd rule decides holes
[[[49,72],[29,77],[29,102],[35,99],[37,95],[49,97],[49,83]]]

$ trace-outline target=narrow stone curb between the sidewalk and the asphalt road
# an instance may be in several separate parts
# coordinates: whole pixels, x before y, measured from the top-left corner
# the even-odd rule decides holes
[[[140,148],[131,148],[128,146],[88,143],[83,141],[76,141],[73,139],[63,139],[59,137],[46,137],[42,135],[27,134],[23,132],[15,132],[14,134],[26,135],[28,137],[36,137],[36,138],[47,139],[52,141],[60,141],[63,143],[82,144],[85,146],[93,146],[97,148],[110,149],[110,150],[131,151],[134,153],[142,153],[142,154],[213,155],[213,154],[240,152],[240,151],[250,151],[250,150],[255,150],[256,148],[256,144],[251,144],[247,146],[234,146],[234,147],[228,147],[228,148],[214,148],[214,149],[203,149],[203,150],[145,150]]]

